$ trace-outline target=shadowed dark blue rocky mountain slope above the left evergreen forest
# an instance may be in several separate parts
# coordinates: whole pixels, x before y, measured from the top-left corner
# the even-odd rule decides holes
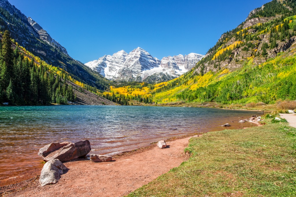
[[[7,0],[0,0],[0,31],[4,30],[9,30],[11,38],[20,46],[48,64],[65,69],[76,80],[102,90],[110,83],[102,76],[93,73],[89,67],[70,57],[67,50],[32,18],[22,14]]]

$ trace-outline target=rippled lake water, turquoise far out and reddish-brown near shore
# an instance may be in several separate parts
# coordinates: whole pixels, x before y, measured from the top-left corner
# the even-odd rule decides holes
[[[39,148],[88,139],[91,153],[116,154],[190,133],[248,127],[261,112],[152,106],[0,107],[0,180],[42,167]],[[234,122],[231,122],[234,121]],[[229,129],[228,128],[228,129]],[[243,131],[242,131],[243,132]]]

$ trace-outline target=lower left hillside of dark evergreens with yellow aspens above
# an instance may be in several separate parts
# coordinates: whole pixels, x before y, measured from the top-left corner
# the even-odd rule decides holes
[[[13,43],[6,30],[0,42],[0,102],[17,105],[76,103],[75,92],[87,96],[84,89],[99,93],[97,88],[73,79],[65,70],[54,67]],[[74,85],[74,84],[76,85]],[[71,85],[73,84],[73,85]],[[73,89],[74,88],[74,89]],[[81,94],[80,93],[80,94]],[[96,97],[99,100],[99,96]],[[83,98],[78,104],[83,102]],[[112,104],[104,99],[94,104]],[[104,102],[103,102],[104,101]],[[85,102],[84,102],[85,103]]]

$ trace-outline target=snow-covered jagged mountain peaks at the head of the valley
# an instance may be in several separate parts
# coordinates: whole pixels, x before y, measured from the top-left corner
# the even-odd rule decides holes
[[[162,81],[176,78],[189,71],[203,57],[200,54],[190,53],[185,56],[164,57],[160,61],[138,47],[129,54],[122,50],[85,65],[110,80],[145,81],[153,76],[150,81]]]

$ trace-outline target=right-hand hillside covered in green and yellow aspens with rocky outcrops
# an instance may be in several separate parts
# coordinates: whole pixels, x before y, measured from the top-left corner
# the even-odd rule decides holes
[[[296,2],[273,0],[224,33],[197,65],[174,80],[111,89],[150,103],[222,104],[296,99]],[[144,99],[143,99],[144,100]],[[146,99],[145,99],[146,101]]]

